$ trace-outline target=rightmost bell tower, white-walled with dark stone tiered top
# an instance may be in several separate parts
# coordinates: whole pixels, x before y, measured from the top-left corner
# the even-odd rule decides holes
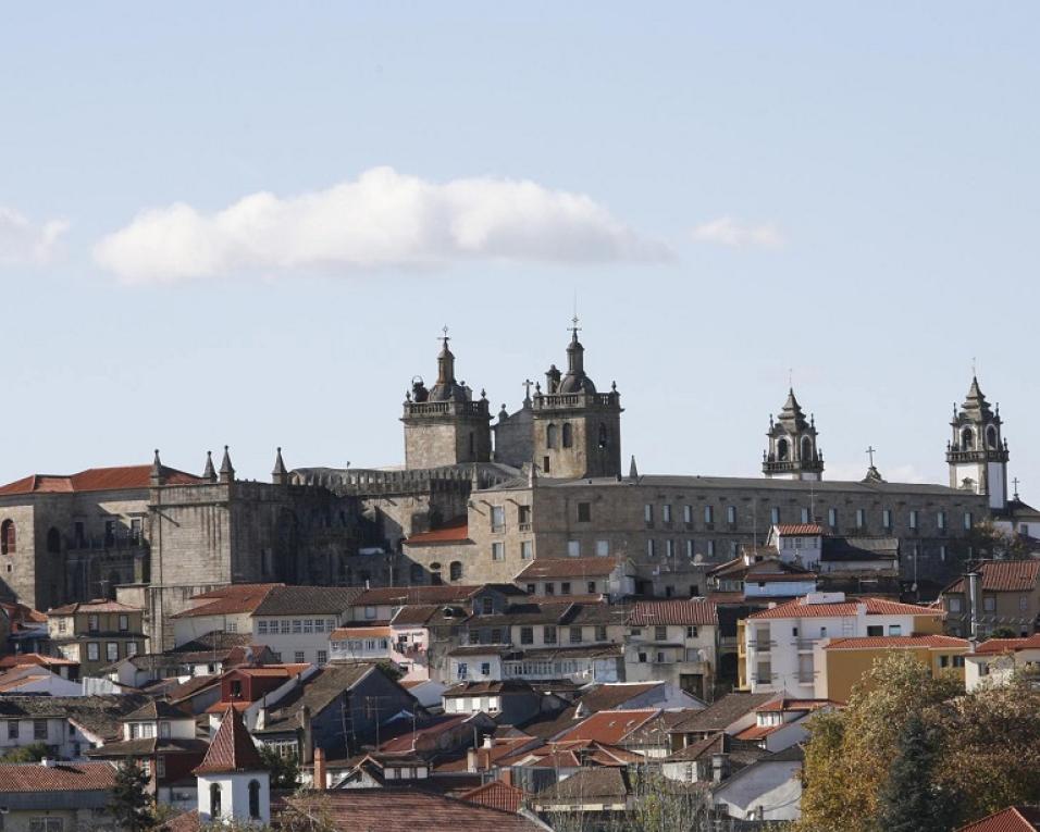
[[[973,375],[964,403],[959,409],[953,406],[946,464],[950,486],[985,494],[991,509],[1007,505],[1007,440],[1001,435],[1001,425],[1000,405],[995,412],[990,408]]]

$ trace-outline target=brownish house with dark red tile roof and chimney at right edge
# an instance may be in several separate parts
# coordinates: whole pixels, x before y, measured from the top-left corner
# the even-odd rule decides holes
[[[952,635],[986,638],[996,630],[1040,632],[1040,559],[987,560],[942,591]],[[968,589],[975,586],[975,597]],[[974,621],[974,629],[973,629]]]

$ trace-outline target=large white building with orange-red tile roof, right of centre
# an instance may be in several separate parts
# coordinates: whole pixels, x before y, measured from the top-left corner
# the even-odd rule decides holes
[[[753,693],[785,691],[814,698],[818,642],[864,636],[927,635],[942,629],[942,611],[882,598],[846,599],[813,593],[747,617],[739,634],[739,684]]]

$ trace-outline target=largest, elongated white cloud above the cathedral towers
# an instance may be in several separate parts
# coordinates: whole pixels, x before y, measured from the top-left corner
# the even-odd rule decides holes
[[[212,214],[177,203],[104,237],[95,259],[127,283],[256,270],[357,272],[461,260],[604,263],[670,258],[590,197],[478,177],[438,184],[374,167],[357,181],[280,198],[260,193]]]

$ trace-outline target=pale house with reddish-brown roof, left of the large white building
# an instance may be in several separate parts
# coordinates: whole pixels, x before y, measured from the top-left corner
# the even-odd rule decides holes
[[[719,626],[711,601],[635,601],[627,623],[627,681],[663,680],[704,701],[715,698]]]

